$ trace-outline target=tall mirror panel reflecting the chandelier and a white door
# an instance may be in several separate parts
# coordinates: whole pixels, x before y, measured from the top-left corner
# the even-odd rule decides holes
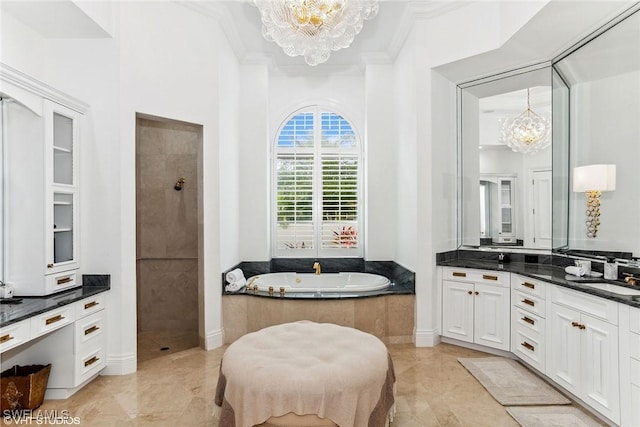
[[[550,249],[551,67],[458,87],[460,244]]]

